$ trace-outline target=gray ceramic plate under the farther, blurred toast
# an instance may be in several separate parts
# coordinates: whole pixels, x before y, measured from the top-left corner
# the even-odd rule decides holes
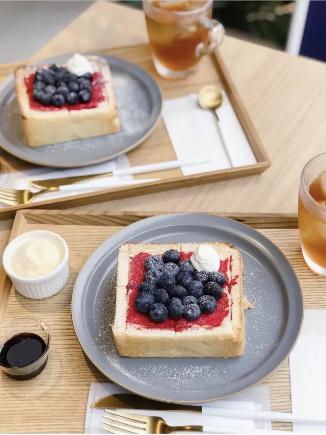
[[[101,56],[112,70],[120,133],[29,148],[22,134],[14,79],[11,77],[0,90],[1,147],[22,160],[42,166],[76,167],[110,160],[142,143],[160,118],[160,89],[148,72],[139,66],[114,56]],[[38,64],[63,63],[69,57],[71,55],[56,56]]]

